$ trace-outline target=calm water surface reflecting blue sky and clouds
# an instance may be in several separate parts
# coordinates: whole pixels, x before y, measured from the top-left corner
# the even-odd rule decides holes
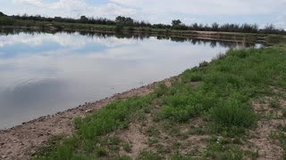
[[[0,36],[0,129],[176,76],[236,44],[159,37]]]

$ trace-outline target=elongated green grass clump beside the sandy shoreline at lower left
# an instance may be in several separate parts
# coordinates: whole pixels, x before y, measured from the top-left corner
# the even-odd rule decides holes
[[[85,118],[76,119],[76,128],[85,139],[89,140],[115,129],[127,128],[130,112],[149,106],[154,98],[154,94],[149,94],[111,103]]]

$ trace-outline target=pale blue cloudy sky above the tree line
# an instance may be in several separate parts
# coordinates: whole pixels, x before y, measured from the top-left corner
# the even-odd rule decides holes
[[[286,28],[286,0],[0,0],[0,12],[79,18],[128,16],[150,23],[272,23]]]

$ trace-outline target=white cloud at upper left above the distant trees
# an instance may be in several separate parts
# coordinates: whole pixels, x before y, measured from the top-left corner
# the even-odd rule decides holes
[[[0,0],[1,1],[1,0]],[[80,17],[80,15],[114,18],[118,15],[134,15],[135,9],[120,4],[106,3],[101,5],[87,4],[86,0],[58,0],[47,3],[43,0],[13,0],[13,5],[21,5],[20,14],[41,14],[45,16]],[[14,9],[15,10],[15,9]]]

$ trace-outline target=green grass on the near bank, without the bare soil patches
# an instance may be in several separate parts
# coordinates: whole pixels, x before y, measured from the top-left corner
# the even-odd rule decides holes
[[[120,148],[130,152],[130,144],[114,137],[107,140],[102,138],[110,132],[128,129],[130,122],[145,121],[144,115],[150,112],[154,121],[162,124],[162,127],[159,130],[158,126],[151,124],[144,133],[152,137],[147,144],[156,147],[158,152],[143,150],[138,159],[164,159],[166,149],[157,138],[162,132],[180,136],[180,128],[176,128],[176,125],[189,124],[198,117],[204,117],[208,123],[204,133],[225,137],[222,140],[217,137],[211,139],[206,151],[201,153],[202,158],[256,157],[257,153],[240,149],[228,138],[238,138],[248,129],[256,127],[257,115],[251,106],[253,100],[272,95],[273,87],[286,89],[285,64],[286,53],[281,47],[231,50],[225,56],[186,70],[170,87],[159,84],[155,92],[146,96],[115,101],[84,118],[77,118],[76,132],[71,137],[58,140],[48,149],[41,149],[35,158],[121,158]],[[194,82],[196,85],[191,84]],[[276,108],[276,102],[272,103]],[[193,158],[181,156],[176,150],[171,152],[171,159]],[[130,157],[122,156],[124,158]]]

